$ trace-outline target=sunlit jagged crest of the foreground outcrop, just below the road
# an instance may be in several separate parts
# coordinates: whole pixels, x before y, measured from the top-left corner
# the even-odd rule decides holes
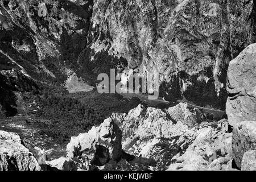
[[[201,111],[189,110],[187,104],[178,104],[170,107],[167,111],[162,111],[154,107],[147,109],[138,105],[130,110],[121,121],[123,131],[123,147],[129,143],[130,138],[150,138],[154,135],[158,138],[168,138],[188,131],[189,123],[199,126],[203,121],[204,113]],[[177,125],[174,125],[176,124]],[[124,142],[125,141],[125,142]]]

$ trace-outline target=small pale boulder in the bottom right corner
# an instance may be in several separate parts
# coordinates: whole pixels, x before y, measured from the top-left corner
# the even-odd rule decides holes
[[[256,150],[249,150],[243,154],[242,171],[256,171]]]

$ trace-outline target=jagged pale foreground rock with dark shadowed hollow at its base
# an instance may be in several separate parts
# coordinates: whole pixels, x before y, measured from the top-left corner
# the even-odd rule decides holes
[[[111,118],[88,133],[72,137],[67,145],[67,158],[85,156],[96,166],[104,166],[110,159],[118,160],[122,154],[122,131]]]

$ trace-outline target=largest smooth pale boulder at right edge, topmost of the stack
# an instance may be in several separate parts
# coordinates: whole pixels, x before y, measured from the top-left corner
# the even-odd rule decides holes
[[[230,124],[256,122],[256,44],[246,47],[230,62],[228,92],[226,113]]]

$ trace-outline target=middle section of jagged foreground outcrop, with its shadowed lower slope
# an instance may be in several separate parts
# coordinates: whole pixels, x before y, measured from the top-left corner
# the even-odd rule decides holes
[[[199,134],[200,114],[204,115],[201,111],[196,114],[195,110],[189,110],[185,104],[166,111],[138,105],[127,115],[114,117],[121,118],[118,123],[123,131],[123,150],[137,157],[154,159],[155,169],[163,170],[171,164],[172,157],[183,154]],[[189,129],[186,125],[189,118],[189,123],[197,127]]]

